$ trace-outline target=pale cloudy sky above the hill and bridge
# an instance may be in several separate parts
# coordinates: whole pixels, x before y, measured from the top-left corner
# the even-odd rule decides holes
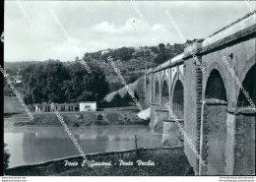
[[[106,48],[184,43],[166,9],[186,39],[206,38],[250,12],[244,1],[5,1],[5,61],[72,61]]]

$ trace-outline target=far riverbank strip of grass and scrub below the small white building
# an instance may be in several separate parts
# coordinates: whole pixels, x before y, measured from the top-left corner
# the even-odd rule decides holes
[[[59,112],[68,126],[148,125],[134,109],[105,109],[88,112]],[[33,121],[26,113],[5,117],[5,126],[62,126],[54,112],[34,112]]]

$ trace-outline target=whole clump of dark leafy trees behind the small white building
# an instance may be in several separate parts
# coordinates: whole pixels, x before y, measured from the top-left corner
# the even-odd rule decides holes
[[[23,72],[27,103],[76,102],[102,99],[108,93],[104,74],[90,65],[88,73],[79,61],[65,65],[50,60],[39,65],[31,65]]]

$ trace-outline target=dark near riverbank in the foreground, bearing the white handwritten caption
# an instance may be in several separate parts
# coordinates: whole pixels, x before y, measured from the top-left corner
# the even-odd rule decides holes
[[[194,175],[183,148],[139,149],[126,152],[88,154],[94,167],[82,166],[74,156],[7,169],[14,176],[185,176]],[[125,162],[125,163],[124,163]],[[77,166],[76,166],[77,164]]]

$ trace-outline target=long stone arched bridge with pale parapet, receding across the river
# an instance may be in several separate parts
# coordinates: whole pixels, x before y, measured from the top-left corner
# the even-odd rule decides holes
[[[198,175],[255,173],[255,111],[224,64],[223,57],[255,103],[255,13],[193,42],[202,73],[186,48],[145,75],[146,104],[161,145],[183,145],[181,133],[164,104],[192,140],[207,166],[200,165],[188,143],[185,153]],[[245,25],[245,26],[244,26]],[[204,101],[204,104],[202,104]]]

